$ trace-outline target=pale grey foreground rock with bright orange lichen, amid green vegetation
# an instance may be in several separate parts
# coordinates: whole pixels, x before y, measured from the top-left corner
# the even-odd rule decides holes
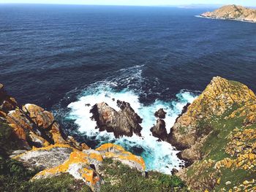
[[[61,155],[61,153],[63,154]],[[75,179],[83,180],[93,191],[100,190],[102,178],[98,172],[103,158],[113,158],[113,160],[121,161],[121,163],[136,168],[141,172],[145,170],[143,158],[132,155],[121,146],[113,144],[102,145],[96,150],[83,151],[76,150],[69,145],[51,145],[31,150],[15,158],[24,164],[30,163],[39,167],[43,166],[45,170],[36,174],[32,180],[69,173]],[[42,164],[43,161],[48,161],[49,163]]]

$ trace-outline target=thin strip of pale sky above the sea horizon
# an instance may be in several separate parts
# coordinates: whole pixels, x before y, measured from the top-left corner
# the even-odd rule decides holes
[[[256,6],[256,0],[0,0],[14,4],[94,4],[94,5],[182,5],[182,4],[239,4]]]

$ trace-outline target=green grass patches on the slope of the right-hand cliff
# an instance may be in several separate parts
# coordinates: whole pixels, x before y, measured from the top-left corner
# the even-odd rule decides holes
[[[233,82],[237,83],[237,82]],[[252,180],[252,178],[256,177],[256,174],[252,174],[243,169],[221,169],[221,172],[218,172],[214,169],[213,166],[206,168],[201,167],[202,162],[204,160],[214,160],[220,161],[224,158],[235,158],[230,156],[225,152],[225,147],[228,142],[230,142],[229,136],[233,133],[235,128],[239,130],[244,130],[243,126],[244,118],[226,118],[233,111],[237,110],[241,106],[234,105],[229,110],[225,112],[222,116],[215,116],[210,119],[200,120],[197,123],[198,135],[207,134],[207,132],[211,131],[211,134],[206,139],[206,142],[203,144],[203,147],[200,149],[201,153],[204,155],[202,161],[199,161],[198,164],[194,164],[187,170],[187,176],[193,177],[193,180],[210,180],[209,175],[212,174],[212,177],[215,179],[221,177],[221,182],[219,185],[213,186],[215,191],[220,191],[221,188],[226,188],[227,191],[234,186],[240,185],[244,180]],[[226,118],[226,119],[225,119]],[[255,128],[255,125],[248,126],[246,128]],[[202,172],[203,170],[203,172]],[[225,185],[227,181],[230,181],[230,185]],[[208,188],[209,189],[209,188]],[[210,188],[211,191],[211,188]]]

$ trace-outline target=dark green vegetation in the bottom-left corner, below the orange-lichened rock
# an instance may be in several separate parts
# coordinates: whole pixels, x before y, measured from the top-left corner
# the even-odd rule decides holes
[[[70,174],[61,174],[42,180],[29,180],[37,170],[26,169],[23,164],[10,158],[0,157],[0,191],[2,192],[89,192],[89,186],[75,180]]]

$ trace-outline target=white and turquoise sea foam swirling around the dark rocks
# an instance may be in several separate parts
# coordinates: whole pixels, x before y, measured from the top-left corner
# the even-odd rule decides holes
[[[165,122],[167,124],[167,131],[170,131],[171,126],[175,122],[178,114],[183,109],[187,102],[192,102],[195,99],[195,95],[186,91],[181,91],[176,95],[177,99],[174,101],[155,101],[153,104],[143,106],[140,104],[139,96],[132,91],[124,90],[116,92],[111,87],[111,84],[100,83],[97,88],[89,88],[78,101],[69,104],[71,111],[69,112],[68,118],[75,120],[75,123],[79,126],[79,131],[86,133],[91,137],[96,137],[102,143],[108,141],[115,141],[116,144],[126,147],[128,150],[134,147],[139,148],[146,161],[146,167],[148,170],[157,170],[170,174],[170,171],[182,161],[176,156],[178,151],[167,142],[157,142],[157,138],[151,135],[150,128],[156,123],[154,112],[163,108],[167,112]],[[115,101],[113,101],[115,99]],[[96,127],[96,122],[91,120],[91,106],[99,102],[105,101],[113,107],[115,110],[119,110],[116,106],[116,100],[127,101],[131,104],[131,107],[135,112],[143,118],[141,126],[142,137],[134,135],[133,137],[121,137],[115,139],[113,133],[106,131],[99,132]],[[90,104],[90,106],[86,106]]]

